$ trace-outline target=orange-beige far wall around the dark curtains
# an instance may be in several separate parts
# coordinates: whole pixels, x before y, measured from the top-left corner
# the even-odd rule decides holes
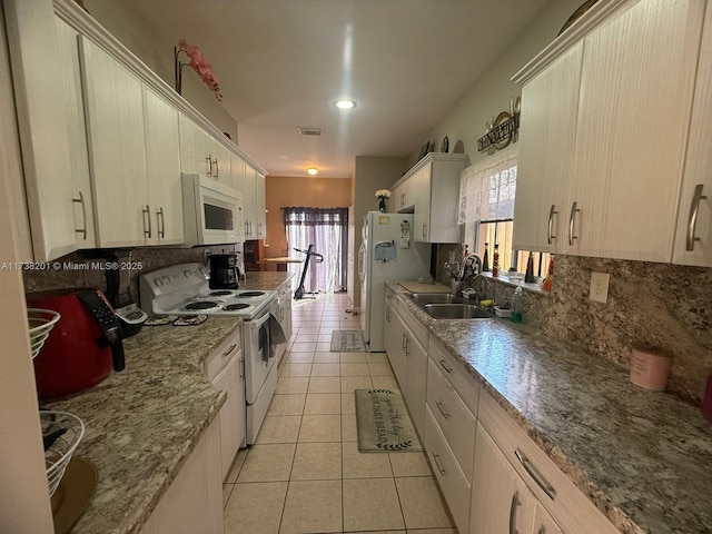
[[[349,178],[295,178],[267,176],[267,239],[265,256],[288,256],[281,208],[305,206],[310,208],[347,208],[352,201]]]

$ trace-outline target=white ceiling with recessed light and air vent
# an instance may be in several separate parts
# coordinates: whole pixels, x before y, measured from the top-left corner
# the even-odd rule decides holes
[[[200,47],[240,148],[269,174],[346,178],[356,156],[417,150],[550,0],[129,1],[166,41]]]

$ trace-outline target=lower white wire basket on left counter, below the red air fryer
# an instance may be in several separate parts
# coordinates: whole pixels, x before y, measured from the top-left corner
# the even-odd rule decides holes
[[[50,496],[57,491],[59,482],[65,476],[65,469],[69,465],[77,445],[85,435],[82,421],[67,412],[41,411],[40,423],[42,425],[42,438],[52,441],[52,436],[65,432],[53,438],[53,443],[44,451],[44,465],[47,466],[47,484]]]

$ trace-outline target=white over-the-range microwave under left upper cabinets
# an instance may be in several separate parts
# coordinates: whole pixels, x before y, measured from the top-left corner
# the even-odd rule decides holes
[[[198,175],[181,175],[181,180],[187,247],[245,240],[240,191]]]

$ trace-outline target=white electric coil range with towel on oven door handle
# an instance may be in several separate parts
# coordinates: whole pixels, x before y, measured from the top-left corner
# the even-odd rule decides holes
[[[246,441],[255,443],[277,388],[277,364],[286,350],[283,314],[274,290],[210,289],[202,264],[181,264],[141,275],[141,308],[151,316],[243,318]]]

